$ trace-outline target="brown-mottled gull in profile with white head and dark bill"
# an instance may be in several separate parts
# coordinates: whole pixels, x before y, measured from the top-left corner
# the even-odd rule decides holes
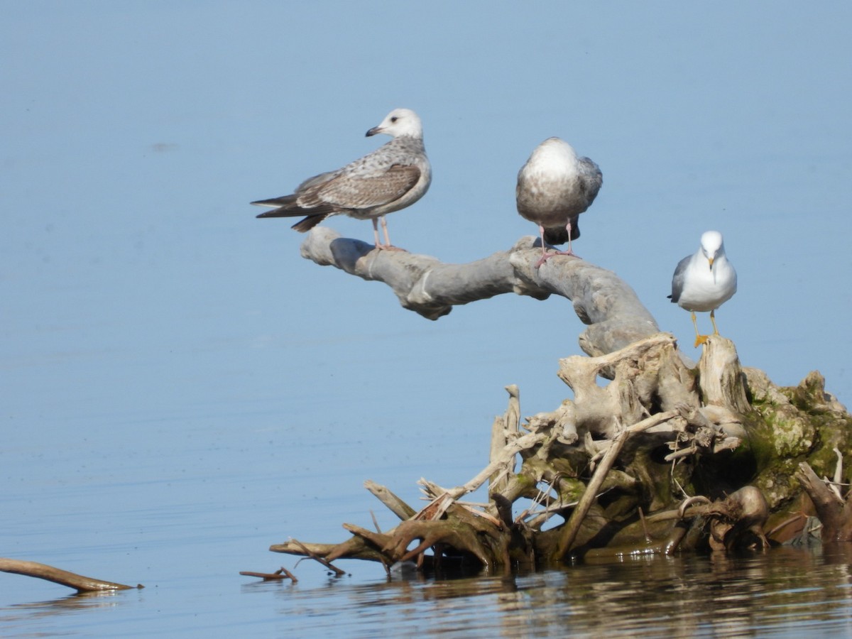
[[[432,181],[432,168],[423,147],[423,125],[411,109],[394,109],[367,136],[385,133],[394,139],[342,169],[310,177],[296,193],[259,199],[251,204],[273,210],[258,217],[298,217],[292,226],[305,233],[329,216],[372,220],[377,249],[395,249],[384,216],[405,209],[423,197]],[[378,239],[382,221],[385,244]]]

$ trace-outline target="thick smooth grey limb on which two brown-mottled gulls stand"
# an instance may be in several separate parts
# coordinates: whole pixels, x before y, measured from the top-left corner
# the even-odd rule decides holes
[[[404,308],[429,320],[453,306],[502,293],[546,299],[567,297],[584,324],[580,348],[590,355],[610,353],[659,331],[636,293],[604,268],[577,257],[551,259],[534,268],[541,251],[532,236],[509,250],[468,264],[445,264],[435,257],[400,250],[377,250],[357,239],[344,239],[328,227],[314,227],[302,242],[302,257],[335,266],[363,279],[389,285]]]

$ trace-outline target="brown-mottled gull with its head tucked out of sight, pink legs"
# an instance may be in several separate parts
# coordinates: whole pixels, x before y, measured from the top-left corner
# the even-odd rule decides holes
[[[573,147],[550,137],[538,147],[518,172],[515,204],[521,217],[538,224],[541,259],[535,268],[555,255],[573,255],[571,240],[580,236],[580,213],[595,201],[603,174],[589,158],[578,158]],[[568,250],[548,254],[544,243],[565,244]]]

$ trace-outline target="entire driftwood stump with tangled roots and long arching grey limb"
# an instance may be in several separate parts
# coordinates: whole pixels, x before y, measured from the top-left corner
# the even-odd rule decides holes
[[[374,250],[325,227],[308,235],[302,256],[383,281],[404,308],[430,320],[501,293],[566,297],[588,326],[579,336],[588,356],[560,360],[559,377],[573,398],[554,411],[522,421],[520,391],[506,387],[509,405],[492,424],[490,463],[459,486],[422,479],[425,508],[415,511],[367,482],[400,518],[397,527],[373,533],[345,524],[352,537],[341,544],[287,542],[270,550],[381,561],[391,573],[406,561],[505,570],[602,553],[766,548],[783,540],[767,538],[768,521],[782,521],[773,530],[790,537],[796,531],[787,522],[803,520],[791,519],[801,510],[800,483],[820,516],[832,513],[832,534],[852,538],[852,509],[845,511],[838,489],[804,470],[813,464],[827,474],[831,466],[840,483],[838,458],[852,452],[852,417],[825,392],[819,373],[780,389],[762,371],[741,367],[734,343],[718,335],[690,368],[675,338],[659,331],[614,273],[575,257],[536,269],[539,255],[531,237],[456,265]],[[486,482],[485,507],[459,501]]]

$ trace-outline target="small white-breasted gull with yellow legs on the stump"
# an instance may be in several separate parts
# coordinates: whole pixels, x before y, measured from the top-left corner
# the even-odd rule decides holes
[[[728,302],[735,292],[737,272],[725,255],[722,233],[707,231],[701,235],[699,250],[677,263],[669,296],[679,307],[692,312],[695,346],[705,343],[707,337],[710,337],[699,334],[695,311],[710,311],[713,333],[718,335],[716,309]]]

